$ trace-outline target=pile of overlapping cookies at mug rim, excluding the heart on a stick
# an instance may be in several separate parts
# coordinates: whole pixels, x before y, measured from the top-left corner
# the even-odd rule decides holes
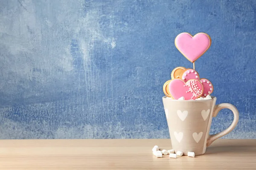
[[[195,100],[212,94],[213,86],[208,79],[200,78],[191,68],[177,67],[172,71],[170,80],[164,83],[163,92],[172,99]]]

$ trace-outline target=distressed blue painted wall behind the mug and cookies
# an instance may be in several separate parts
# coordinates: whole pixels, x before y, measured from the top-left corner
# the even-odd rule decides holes
[[[0,139],[169,138],[181,32],[212,38],[195,64],[240,111],[225,138],[256,138],[255,0],[0,0]]]

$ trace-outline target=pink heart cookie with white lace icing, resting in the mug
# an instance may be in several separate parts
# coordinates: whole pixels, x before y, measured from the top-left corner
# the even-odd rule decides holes
[[[190,79],[186,83],[181,79],[172,79],[169,82],[168,92],[176,100],[182,96],[185,100],[195,100],[202,95],[202,91],[203,85],[196,79]]]

